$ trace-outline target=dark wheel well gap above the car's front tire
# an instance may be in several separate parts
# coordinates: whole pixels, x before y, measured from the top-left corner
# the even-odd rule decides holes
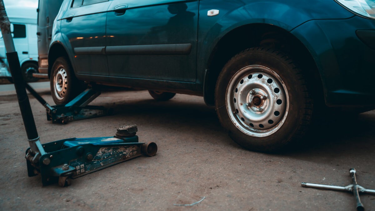
[[[323,83],[318,67],[308,48],[293,34],[281,27],[254,23],[236,27],[216,43],[207,60],[204,78],[204,101],[214,105],[214,90],[217,77],[223,66],[237,53],[252,47],[271,47],[291,56],[308,79],[308,88],[314,99],[324,102]]]

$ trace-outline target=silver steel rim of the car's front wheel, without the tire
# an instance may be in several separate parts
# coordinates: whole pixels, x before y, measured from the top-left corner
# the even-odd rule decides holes
[[[226,109],[240,131],[249,136],[266,137],[278,131],[287,118],[288,90],[272,69],[246,66],[229,81]]]

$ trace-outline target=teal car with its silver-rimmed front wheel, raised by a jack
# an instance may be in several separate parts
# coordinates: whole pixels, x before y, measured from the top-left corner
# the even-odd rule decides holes
[[[375,105],[372,84],[355,79],[374,76],[375,20],[338,2],[65,0],[49,70],[64,57],[88,83],[204,96],[237,143],[272,150],[314,103]]]

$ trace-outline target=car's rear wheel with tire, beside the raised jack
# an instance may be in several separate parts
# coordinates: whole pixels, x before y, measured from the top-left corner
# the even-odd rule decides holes
[[[75,77],[72,65],[65,57],[58,57],[53,63],[50,86],[56,105],[67,104],[84,90],[83,82]]]

